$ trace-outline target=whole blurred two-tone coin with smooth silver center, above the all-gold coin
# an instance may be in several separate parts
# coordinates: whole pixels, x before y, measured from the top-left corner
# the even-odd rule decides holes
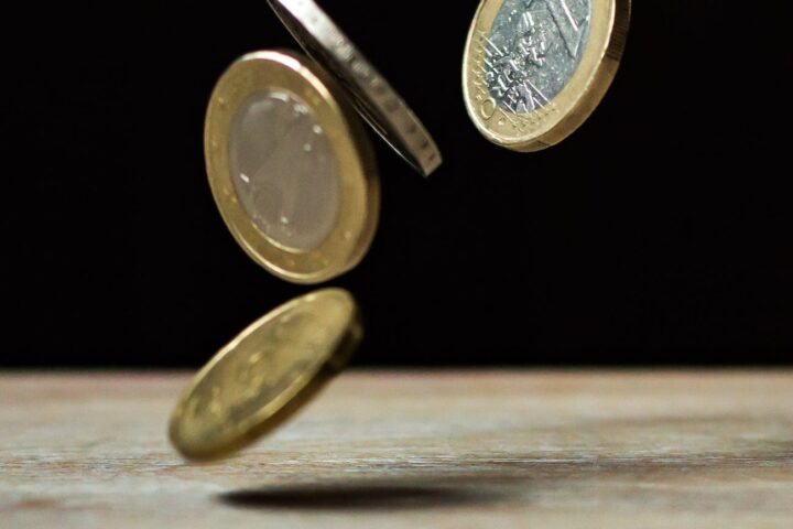
[[[260,266],[316,283],[363,257],[380,210],[374,154],[316,64],[290,52],[245,55],[215,87],[204,142],[220,214]]]

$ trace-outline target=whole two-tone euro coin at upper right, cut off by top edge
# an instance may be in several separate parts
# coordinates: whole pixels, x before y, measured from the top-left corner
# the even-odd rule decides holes
[[[537,151],[575,131],[617,73],[630,0],[482,0],[466,44],[466,109],[490,141]]]

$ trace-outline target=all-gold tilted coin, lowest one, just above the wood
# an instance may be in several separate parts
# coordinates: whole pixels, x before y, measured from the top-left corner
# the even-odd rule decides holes
[[[204,367],[180,399],[170,436],[191,460],[228,455],[291,418],[347,363],[362,336],[344,290],[297,298],[263,316]]]

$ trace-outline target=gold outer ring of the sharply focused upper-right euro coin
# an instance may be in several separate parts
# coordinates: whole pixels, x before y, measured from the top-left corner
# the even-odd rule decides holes
[[[491,142],[519,152],[540,151],[572,134],[606,95],[622,58],[631,3],[630,0],[591,0],[588,43],[563,90],[545,107],[510,116],[506,116],[489,95],[481,96],[477,82],[481,77],[478,42],[481,35],[490,34],[502,3],[503,0],[482,0],[474,17],[463,61],[466,110],[479,132]]]

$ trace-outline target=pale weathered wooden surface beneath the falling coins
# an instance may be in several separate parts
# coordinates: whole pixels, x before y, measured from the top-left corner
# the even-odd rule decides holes
[[[793,527],[793,373],[351,373],[187,465],[182,375],[0,376],[0,527]]]

